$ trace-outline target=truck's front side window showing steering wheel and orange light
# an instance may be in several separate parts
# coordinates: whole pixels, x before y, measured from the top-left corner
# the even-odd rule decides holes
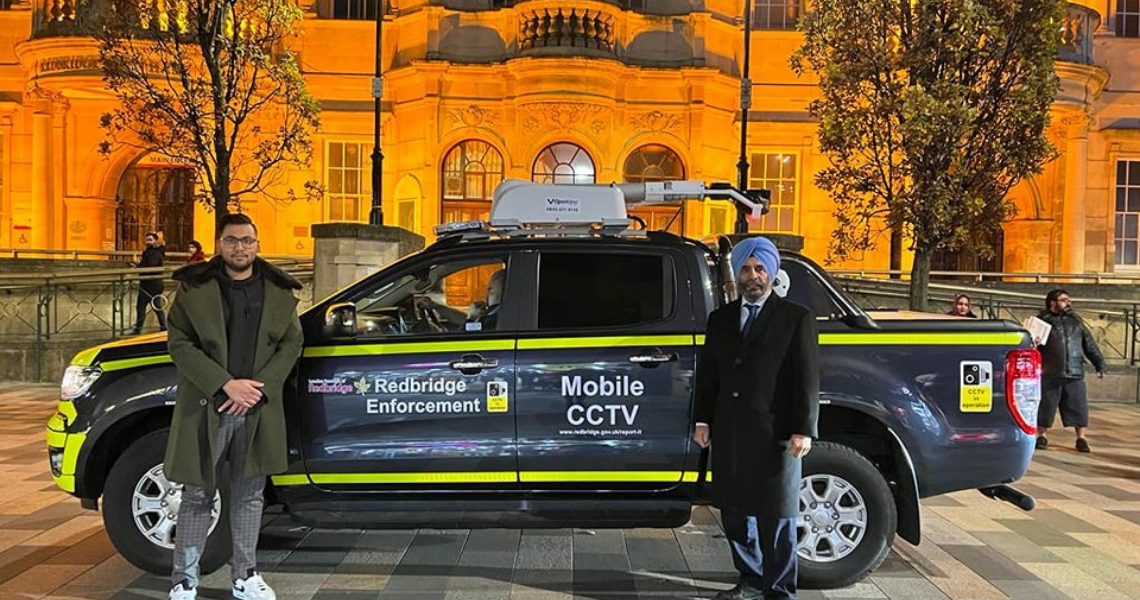
[[[505,283],[502,258],[453,260],[418,269],[356,302],[357,335],[495,331]]]

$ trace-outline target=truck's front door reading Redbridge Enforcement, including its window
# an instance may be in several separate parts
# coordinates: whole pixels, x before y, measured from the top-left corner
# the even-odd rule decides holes
[[[510,273],[506,253],[425,258],[351,299],[350,340],[307,346],[298,405],[315,485],[516,489]]]

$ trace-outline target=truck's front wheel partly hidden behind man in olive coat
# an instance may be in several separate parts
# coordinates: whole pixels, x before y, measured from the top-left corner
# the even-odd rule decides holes
[[[103,493],[103,525],[115,550],[131,565],[158,575],[170,575],[182,493],[181,485],[162,473],[169,433],[161,429],[131,444],[111,468]],[[225,496],[214,496],[214,521],[199,563],[203,575],[226,565],[233,552],[229,519],[220,518],[229,511]]]

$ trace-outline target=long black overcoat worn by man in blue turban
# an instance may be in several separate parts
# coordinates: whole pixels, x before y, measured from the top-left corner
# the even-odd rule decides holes
[[[815,316],[771,294],[747,339],[740,300],[709,315],[697,367],[694,421],[711,430],[712,504],[759,518],[799,514],[792,433],[819,437]]]

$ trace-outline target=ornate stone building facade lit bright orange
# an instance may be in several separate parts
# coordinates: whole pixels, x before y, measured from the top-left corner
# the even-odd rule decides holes
[[[155,0],[139,0],[155,1]],[[321,105],[308,171],[320,202],[246,198],[262,251],[310,254],[309,226],[366,221],[370,205],[374,19],[384,6],[385,224],[429,238],[484,214],[505,178],[557,183],[735,181],[742,0],[301,0],[296,50]],[[806,111],[814,82],[788,65],[804,0],[755,0],[749,187],[773,190],[755,230],[798,234],[826,257],[833,206]],[[161,229],[172,250],[212,245],[196,178],[160,154],[98,153],[115,105],[85,34],[87,0],[0,0],[0,248],[132,250]],[[809,2],[808,2],[809,8]],[[935,268],[1140,269],[1140,0],[1070,2],[1050,131],[1061,155],[1012,193],[993,261],[944,253]],[[731,230],[723,203],[641,209],[692,237]],[[880,249],[842,266],[886,268]]]

